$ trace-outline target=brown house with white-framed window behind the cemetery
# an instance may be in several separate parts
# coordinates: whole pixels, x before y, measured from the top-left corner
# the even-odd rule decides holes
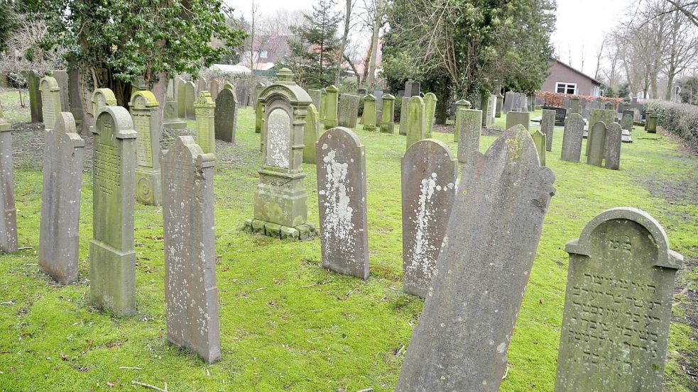
[[[560,60],[553,60],[550,74],[540,86],[540,91],[599,96],[601,95],[601,82]]]

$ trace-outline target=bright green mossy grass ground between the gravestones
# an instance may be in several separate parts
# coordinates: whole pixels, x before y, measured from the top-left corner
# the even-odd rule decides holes
[[[26,100],[26,91],[23,96]],[[118,318],[89,303],[92,140],[87,140],[80,213],[80,281],[55,284],[37,265],[43,130],[16,92],[0,91],[13,123],[18,219],[16,254],[0,255],[0,389],[168,391],[393,390],[423,301],[402,292],[400,156],[405,137],[356,132],[366,146],[369,261],[361,281],[319,267],[320,240],[287,242],[241,231],[253,214],[260,164],[251,108],[239,111],[236,145],[218,142],[215,176],[217,285],[222,360],[206,365],[168,345],[162,208],[136,203],[138,313]],[[532,113],[531,118],[540,116]],[[504,118],[496,125],[503,126]],[[193,133],[193,121],[189,121]],[[538,124],[532,123],[532,129]],[[359,125],[360,127],[361,125]],[[185,132],[186,133],[186,132]],[[481,138],[484,152],[498,132]],[[623,144],[621,171],[560,161],[555,128],[547,164],[550,202],[523,298],[501,391],[552,391],[568,257],[565,242],[607,208],[634,206],[667,230],[685,256],[677,277],[665,390],[698,390],[698,157],[640,127]],[[453,136],[435,133],[456,152]],[[163,147],[173,134],[165,135]],[[582,155],[584,158],[584,156]],[[308,217],[317,225],[315,166],[307,173]],[[141,386],[137,390],[147,391]]]

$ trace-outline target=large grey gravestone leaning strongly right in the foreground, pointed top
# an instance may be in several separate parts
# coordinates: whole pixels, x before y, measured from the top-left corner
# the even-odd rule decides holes
[[[462,169],[396,391],[497,391],[555,174],[522,125]]]

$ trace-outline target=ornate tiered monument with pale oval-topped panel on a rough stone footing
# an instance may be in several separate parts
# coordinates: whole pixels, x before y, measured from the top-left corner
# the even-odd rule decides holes
[[[245,227],[252,233],[305,240],[314,233],[307,225],[307,194],[303,187],[303,128],[310,96],[293,82],[288,68],[259,96],[264,106],[262,162],[254,196],[254,218]]]

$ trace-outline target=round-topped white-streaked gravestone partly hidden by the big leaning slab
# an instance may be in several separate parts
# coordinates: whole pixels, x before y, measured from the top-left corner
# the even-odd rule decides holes
[[[411,145],[401,162],[403,289],[426,298],[456,196],[458,164],[440,140]]]

